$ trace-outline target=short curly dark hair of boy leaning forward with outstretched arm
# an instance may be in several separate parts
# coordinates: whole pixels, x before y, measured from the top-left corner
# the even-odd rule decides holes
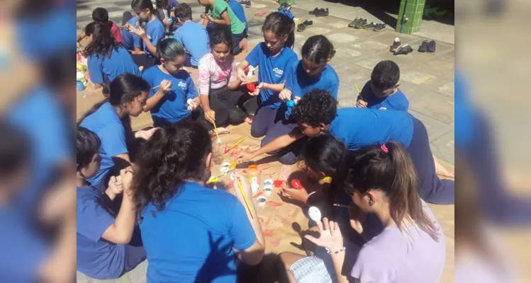
[[[314,88],[298,101],[291,115],[298,124],[306,123],[311,127],[330,125],[337,115],[337,100],[329,91]]]

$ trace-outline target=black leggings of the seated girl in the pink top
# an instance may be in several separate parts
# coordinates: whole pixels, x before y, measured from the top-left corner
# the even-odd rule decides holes
[[[229,91],[226,86],[211,89],[208,99],[210,108],[216,112],[218,127],[238,125],[247,115],[254,115],[258,108],[256,96],[250,96],[242,91]],[[219,120],[218,112],[221,112]]]

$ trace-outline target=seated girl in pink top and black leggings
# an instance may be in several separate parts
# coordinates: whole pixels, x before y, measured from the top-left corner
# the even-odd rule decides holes
[[[244,120],[251,122],[257,109],[256,97],[237,89],[242,81],[236,78],[231,46],[230,30],[220,26],[211,35],[212,51],[199,61],[201,106],[205,119],[212,124],[216,121],[218,127],[238,125]]]

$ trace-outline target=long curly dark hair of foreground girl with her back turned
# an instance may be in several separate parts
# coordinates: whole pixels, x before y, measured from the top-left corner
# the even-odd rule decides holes
[[[205,162],[211,152],[211,137],[199,124],[183,122],[158,129],[142,144],[135,161],[133,197],[139,219],[150,204],[159,212],[164,210],[185,180],[210,177]]]

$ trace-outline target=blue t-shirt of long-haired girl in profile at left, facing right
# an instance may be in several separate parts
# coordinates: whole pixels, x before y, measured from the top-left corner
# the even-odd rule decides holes
[[[104,103],[96,112],[86,117],[81,122],[81,127],[90,129],[101,139],[101,147],[99,148],[101,166],[94,177],[87,179],[93,187],[99,187],[105,175],[114,166],[112,157],[128,154],[125,129],[120,117],[116,114],[116,110],[110,103]]]

